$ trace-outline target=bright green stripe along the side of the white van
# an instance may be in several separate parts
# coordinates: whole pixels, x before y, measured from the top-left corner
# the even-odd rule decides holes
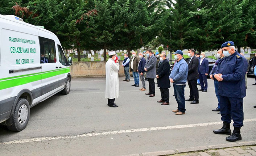
[[[32,75],[32,76],[28,76],[28,77],[21,77],[18,79],[1,81],[0,82],[0,90],[15,87],[18,85],[31,83],[31,82],[38,81],[41,79],[47,79],[49,77],[53,77],[53,76],[57,76],[57,75],[61,75],[63,73],[69,73],[69,72],[70,72],[70,68],[64,68],[61,70],[54,70],[51,72],[48,71],[47,73],[42,72],[41,74],[38,74],[38,75]]]

